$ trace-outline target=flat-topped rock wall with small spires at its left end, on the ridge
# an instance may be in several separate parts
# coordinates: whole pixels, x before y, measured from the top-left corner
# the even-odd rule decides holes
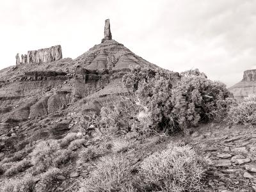
[[[61,45],[55,45],[45,49],[38,49],[37,51],[28,51],[28,54],[16,54],[16,65],[20,63],[46,63],[51,61],[58,61],[62,59]]]

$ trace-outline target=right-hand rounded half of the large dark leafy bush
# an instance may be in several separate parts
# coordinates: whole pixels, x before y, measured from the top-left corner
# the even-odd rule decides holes
[[[221,120],[234,102],[225,84],[207,79],[198,70],[189,70],[172,90],[173,120],[180,129],[211,119]]]

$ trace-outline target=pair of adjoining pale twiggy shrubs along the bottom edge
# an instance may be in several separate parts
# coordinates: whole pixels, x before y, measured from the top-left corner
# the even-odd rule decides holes
[[[80,191],[200,191],[207,163],[189,147],[177,145],[144,159],[136,175],[122,154],[102,157]]]

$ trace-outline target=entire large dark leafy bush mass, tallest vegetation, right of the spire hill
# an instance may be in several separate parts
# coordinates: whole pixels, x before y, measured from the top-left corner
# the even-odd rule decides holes
[[[138,120],[154,131],[174,132],[218,120],[234,102],[225,84],[207,79],[198,70],[179,76],[163,69],[133,68],[123,81],[143,108]]]

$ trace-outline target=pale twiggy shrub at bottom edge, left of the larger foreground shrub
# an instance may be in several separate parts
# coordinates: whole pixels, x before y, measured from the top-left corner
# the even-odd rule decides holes
[[[79,191],[132,191],[129,161],[123,156],[102,157]]]

